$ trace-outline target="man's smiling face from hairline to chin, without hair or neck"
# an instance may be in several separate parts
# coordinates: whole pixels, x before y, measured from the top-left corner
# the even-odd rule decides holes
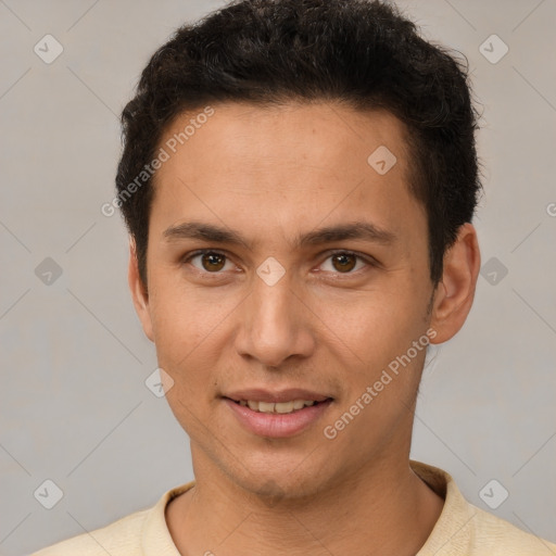
[[[149,294],[134,254],[130,285],[195,475],[302,496],[399,458],[439,308],[402,124],[222,104],[178,147],[155,177]]]

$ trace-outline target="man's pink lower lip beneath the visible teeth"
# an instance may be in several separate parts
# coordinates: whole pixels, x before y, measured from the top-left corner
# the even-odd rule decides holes
[[[245,429],[260,437],[286,438],[299,434],[316,422],[328,409],[332,400],[308,405],[293,413],[261,413],[225,397],[224,401]]]

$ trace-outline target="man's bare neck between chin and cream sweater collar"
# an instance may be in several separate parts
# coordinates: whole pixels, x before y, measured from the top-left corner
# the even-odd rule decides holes
[[[195,459],[195,485],[166,509],[184,556],[409,556],[442,511],[443,500],[415,475],[408,456],[368,464],[306,497],[265,500]]]

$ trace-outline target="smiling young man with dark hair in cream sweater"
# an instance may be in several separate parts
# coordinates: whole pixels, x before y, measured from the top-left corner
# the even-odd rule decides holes
[[[542,555],[409,460],[480,254],[466,71],[392,7],[244,0],[123,113],[129,286],[195,481],[49,555]]]

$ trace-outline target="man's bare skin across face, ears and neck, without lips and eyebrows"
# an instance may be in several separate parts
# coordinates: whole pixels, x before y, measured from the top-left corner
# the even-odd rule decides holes
[[[443,506],[409,467],[425,350],[333,440],[323,430],[428,329],[431,343],[460,329],[480,268],[476,230],[460,228],[434,288],[425,210],[407,187],[405,128],[388,112],[324,102],[214,109],[157,170],[148,293],[130,241],[134,303],[191,442],[197,484],[166,508],[174,542],[182,555],[414,555]],[[179,116],[165,138],[190,118]],[[367,163],[379,146],[397,159],[384,175]],[[164,237],[193,219],[235,229],[247,243]],[[396,239],[290,245],[354,220]],[[198,249],[225,251],[216,261],[225,266],[184,261]],[[345,269],[331,250],[378,263],[349,256]],[[256,274],[269,256],[286,270],[271,287]],[[333,402],[303,432],[263,438],[220,397],[255,387],[306,388]]]

